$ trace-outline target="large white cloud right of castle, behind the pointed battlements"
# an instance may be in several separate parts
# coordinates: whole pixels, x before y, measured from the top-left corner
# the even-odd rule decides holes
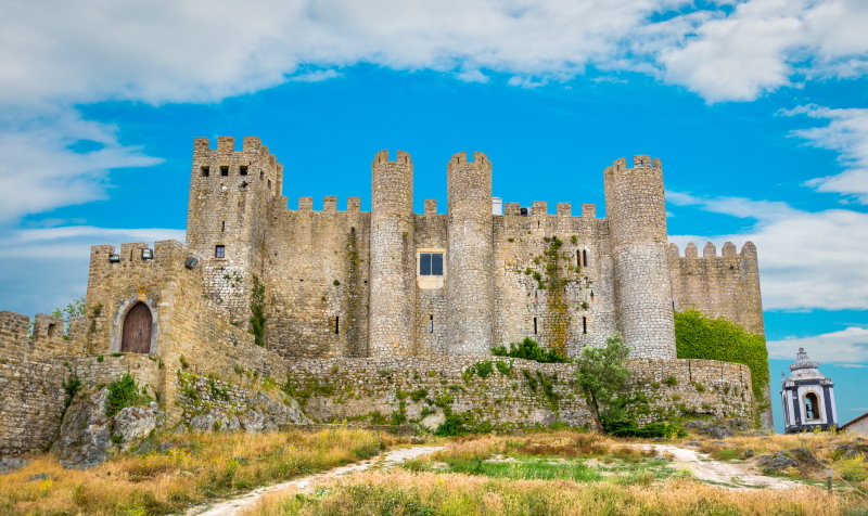
[[[766,310],[868,309],[868,214],[830,209],[803,211],[784,203],[738,197],[700,198],[667,192],[676,205],[695,205],[756,222],[742,233],[709,240],[752,241],[757,247]],[[706,237],[672,235],[681,249]]]

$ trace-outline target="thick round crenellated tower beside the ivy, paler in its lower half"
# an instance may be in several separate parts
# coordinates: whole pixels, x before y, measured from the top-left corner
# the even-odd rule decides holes
[[[634,358],[674,359],[675,322],[660,159],[634,156],[605,168],[617,328]]]

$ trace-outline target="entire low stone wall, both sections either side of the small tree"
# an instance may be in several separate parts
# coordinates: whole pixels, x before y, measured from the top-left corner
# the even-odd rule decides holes
[[[633,360],[639,423],[713,414],[752,421],[748,367],[712,360]],[[288,383],[318,422],[420,423],[436,428],[449,414],[481,427],[556,422],[595,427],[573,364],[501,357],[299,360]]]

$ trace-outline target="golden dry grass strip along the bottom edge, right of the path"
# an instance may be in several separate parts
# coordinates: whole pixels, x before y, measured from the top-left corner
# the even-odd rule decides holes
[[[691,479],[650,487],[505,480],[468,475],[367,473],[331,482],[315,496],[268,496],[245,516],[272,515],[839,515],[864,514],[854,494],[805,487],[728,490]]]

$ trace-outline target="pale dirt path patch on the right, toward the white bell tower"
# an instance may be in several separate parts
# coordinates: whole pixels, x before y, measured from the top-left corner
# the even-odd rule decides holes
[[[757,475],[751,472],[750,465],[744,463],[713,461],[706,454],[687,448],[671,444],[643,444],[642,449],[669,454],[673,457],[673,467],[689,469],[694,477],[702,481],[732,489],[791,489],[801,486],[784,478]]]

